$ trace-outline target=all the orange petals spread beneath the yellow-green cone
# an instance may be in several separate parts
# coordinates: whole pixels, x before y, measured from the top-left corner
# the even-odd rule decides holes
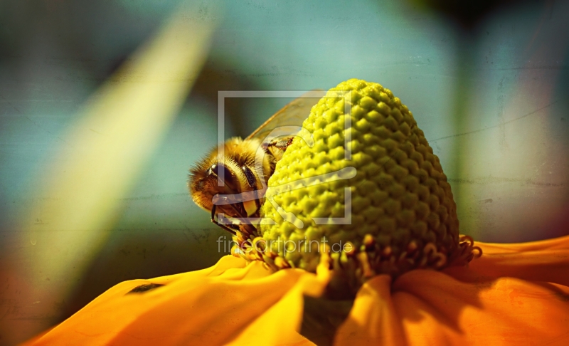
[[[475,243],[484,255],[442,271],[414,269],[358,290],[335,345],[567,345],[569,236]],[[36,345],[313,345],[303,304],[328,280],[225,256],[201,271],[119,283]],[[306,333],[305,333],[306,334]]]

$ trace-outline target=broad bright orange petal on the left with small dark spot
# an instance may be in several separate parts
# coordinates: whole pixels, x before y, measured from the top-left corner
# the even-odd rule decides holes
[[[234,268],[242,264],[226,257],[204,271],[120,283],[28,345],[222,345],[299,278],[314,276],[299,270],[269,276],[262,263]],[[166,285],[125,295],[149,282]]]

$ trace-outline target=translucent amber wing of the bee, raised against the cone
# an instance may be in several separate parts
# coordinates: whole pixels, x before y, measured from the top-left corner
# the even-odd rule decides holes
[[[281,110],[272,115],[269,120],[265,121],[257,130],[249,135],[245,140],[258,139],[263,142],[267,135],[282,126],[302,126],[304,119],[310,114],[312,106],[318,103],[318,100],[326,95],[324,90],[312,90],[304,93],[302,96],[285,105]]]

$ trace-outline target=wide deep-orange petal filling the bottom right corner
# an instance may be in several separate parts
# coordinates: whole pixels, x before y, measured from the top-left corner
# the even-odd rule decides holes
[[[400,276],[393,291],[410,345],[569,345],[563,285],[516,278],[464,283],[417,270]]]

